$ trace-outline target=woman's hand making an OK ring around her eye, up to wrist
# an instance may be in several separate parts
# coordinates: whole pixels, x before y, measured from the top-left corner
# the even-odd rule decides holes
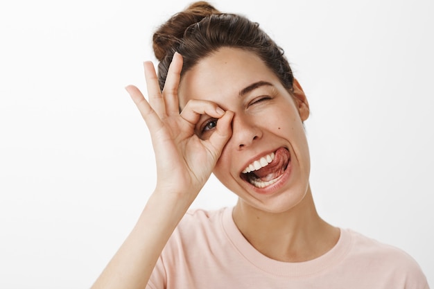
[[[191,100],[179,112],[177,89],[180,84],[182,56],[173,55],[166,84],[160,91],[151,62],[144,63],[149,102],[132,85],[126,87],[150,130],[157,161],[155,192],[172,194],[189,206],[211,175],[223,147],[232,135],[232,112],[224,112],[216,103]],[[218,119],[208,139],[195,134],[202,114]]]

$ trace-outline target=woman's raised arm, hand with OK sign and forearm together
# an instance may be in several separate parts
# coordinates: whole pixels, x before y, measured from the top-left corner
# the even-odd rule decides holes
[[[225,112],[216,103],[189,100],[180,114],[177,89],[182,56],[179,53],[173,56],[163,90],[153,64],[145,62],[144,69],[149,102],[137,87],[126,89],[150,130],[159,189],[151,195],[134,229],[93,289],[146,287],[168,238],[211,175],[232,136],[234,114]],[[206,138],[196,134],[202,115],[218,119],[214,133]]]

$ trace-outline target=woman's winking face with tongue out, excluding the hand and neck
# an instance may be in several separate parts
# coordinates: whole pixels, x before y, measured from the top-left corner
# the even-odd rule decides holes
[[[214,175],[256,209],[291,209],[309,187],[309,148],[302,121],[309,116],[304,93],[295,82],[291,95],[252,52],[222,48],[187,71],[180,82],[180,106],[210,100],[234,112],[232,137]],[[216,119],[202,115],[198,137],[214,132]]]

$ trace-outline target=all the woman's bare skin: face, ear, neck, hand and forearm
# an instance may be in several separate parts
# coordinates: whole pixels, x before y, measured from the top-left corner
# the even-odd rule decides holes
[[[302,125],[309,105],[298,82],[289,93],[256,55],[229,48],[200,60],[182,79],[182,56],[175,53],[163,91],[153,64],[145,62],[144,69],[148,100],[137,87],[126,89],[150,130],[157,184],[137,225],[92,288],[144,288],[211,173],[238,195],[234,221],[262,254],[308,261],[336,244],[339,230],[318,216],[312,200]],[[267,85],[238,96],[258,81]],[[257,189],[241,178],[254,159],[279,148],[290,152],[279,182]]]

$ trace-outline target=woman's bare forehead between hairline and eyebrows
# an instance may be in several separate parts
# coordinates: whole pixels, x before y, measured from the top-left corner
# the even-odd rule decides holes
[[[224,47],[186,71],[178,91],[180,107],[190,99],[222,103],[225,96],[238,96],[254,82],[279,85],[279,79],[255,53]]]

